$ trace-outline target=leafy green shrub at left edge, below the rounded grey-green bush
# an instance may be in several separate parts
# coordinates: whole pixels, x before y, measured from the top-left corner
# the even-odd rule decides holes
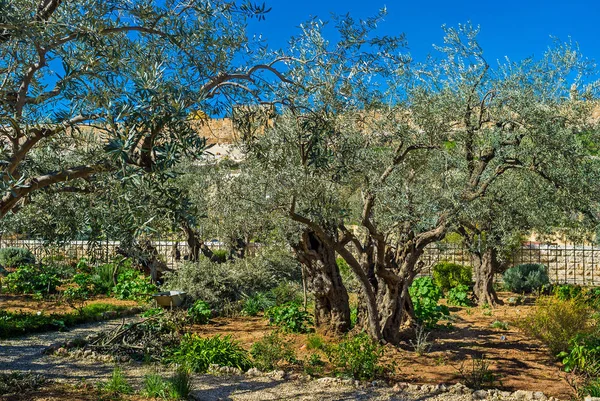
[[[3,279],[8,292],[47,295],[56,292],[61,280],[54,266],[21,266]]]

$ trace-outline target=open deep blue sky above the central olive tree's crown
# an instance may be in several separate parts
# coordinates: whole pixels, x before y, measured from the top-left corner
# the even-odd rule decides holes
[[[578,42],[584,56],[600,62],[600,1],[399,1],[399,0],[255,0],[272,7],[265,21],[250,22],[250,33],[262,33],[272,47],[285,47],[296,27],[310,16],[350,12],[357,18],[387,7],[381,34],[407,35],[410,53],[417,60],[442,42],[442,24],[471,21],[481,26],[479,42],[488,62],[508,56],[513,61],[540,56],[550,35]]]

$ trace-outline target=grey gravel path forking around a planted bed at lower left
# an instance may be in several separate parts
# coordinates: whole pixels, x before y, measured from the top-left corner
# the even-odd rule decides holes
[[[135,318],[126,318],[132,321]],[[123,320],[109,320],[77,326],[67,332],[47,332],[0,339],[0,373],[31,371],[45,375],[48,379],[76,381],[82,378],[104,378],[113,366],[87,360],[56,358],[43,354],[50,345],[60,344],[76,337],[85,337],[101,330],[112,329]]]

